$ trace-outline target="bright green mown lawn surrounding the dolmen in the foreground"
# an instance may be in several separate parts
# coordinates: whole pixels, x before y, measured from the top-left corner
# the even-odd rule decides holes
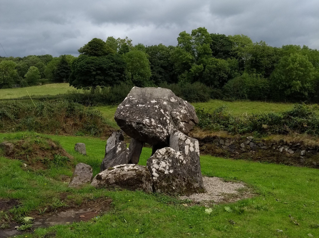
[[[0,142],[4,137],[18,138],[22,135],[0,134]],[[99,171],[105,141],[91,137],[50,137],[75,157],[74,164],[90,164],[94,175]],[[74,152],[77,142],[86,144],[87,156]],[[150,154],[151,149],[144,148],[140,164],[145,165]],[[256,192],[256,196],[250,199],[211,206],[212,212],[207,214],[205,207],[185,207],[183,203],[187,201],[180,202],[164,195],[94,189],[90,186],[71,189],[67,183],[56,180],[58,174],[70,176],[70,168],[51,168],[40,173],[23,169],[22,163],[0,157],[0,197],[19,199],[22,203],[11,210],[15,216],[25,216],[32,210],[53,206],[62,192],[68,192],[68,197],[76,197],[79,203],[87,198],[101,197],[109,197],[113,201],[112,209],[94,222],[39,228],[34,233],[16,236],[19,238],[319,236],[319,170],[316,169],[201,156],[201,169],[205,176],[243,181]],[[225,206],[231,210],[226,211]],[[4,214],[0,213],[0,222],[5,218]],[[230,220],[235,224],[231,224]]]

